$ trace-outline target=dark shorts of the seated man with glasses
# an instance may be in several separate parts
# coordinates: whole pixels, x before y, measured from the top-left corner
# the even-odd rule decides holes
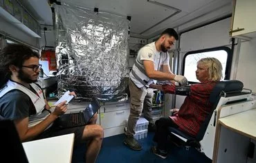
[[[82,134],[84,132],[84,127],[72,127],[68,129],[60,129],[59,127],[55,126],[53,124],[52,127],[49,129],[46,129],[43,133],[39,134],[34,140],[39,140],[39,139],[44,139],[44,138],[51,138],[54,136],[59,136],[59,135],[65,135],[68,133],[75,133],[75,141],[74,145],[77,145],[81,142],[82,140]]]

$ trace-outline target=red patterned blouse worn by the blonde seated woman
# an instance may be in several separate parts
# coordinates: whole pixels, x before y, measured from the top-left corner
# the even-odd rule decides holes
[[[210,113],[209,98],[216,81],[205,81],[190,86],[190,96],[187,96],[179,109],[179,112],[170,116],[179,126],[181,131],[196,135],[199,127]],[[174,94],[175,85],[162,85],[163,91],[167,94]]]

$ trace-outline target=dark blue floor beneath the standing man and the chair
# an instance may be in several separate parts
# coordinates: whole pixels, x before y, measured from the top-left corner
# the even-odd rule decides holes
[[[154,133],[148,133],[147,138],[138,140],[143,146],[141,151],[133,151],[123,144],[125,135],[114,135],[104,138],[102,142],[102,149],[98,155],[97,163],[113,162],[138,162],[138,163],[154,163],[154,162],[169,162],[169,163],[210,163],[208,157],[203,153],[199,153],[196,149],[190,148],[186,150],[185,147],[178,147],[174,144],[169,145],[168,155],[166,159],[162,159],[154,155],[150,151],[150,147],[154,145],[152,138]],[[76,146],[73,151],[73,163],[84,162],[85,144]]]

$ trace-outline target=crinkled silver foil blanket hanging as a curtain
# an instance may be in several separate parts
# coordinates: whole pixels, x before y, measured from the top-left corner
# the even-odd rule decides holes
[[[127,100],[127,18],[68,3],[55,9],[58,94]]]

